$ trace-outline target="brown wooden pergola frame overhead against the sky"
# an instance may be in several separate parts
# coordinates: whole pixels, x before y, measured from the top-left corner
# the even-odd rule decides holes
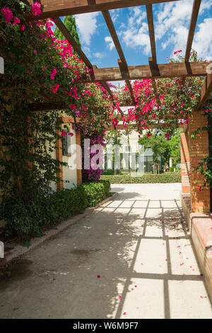
[[[153,4],[167,3],[170,1],[180,0],[40,0],[42,5],[42,13],[40,18],[54,18],[55,23],[61,33],[69,41],[73,50],[78,53],[86,66],[93,69],[93,75],[87,82],[100,82],[105,87],[110,96],[113,95],[107,81],[122,81],[126,82],[126,86],[129,89],[132,103],[135,104],[133,89],[131,87],[130,80],[135,79],[152,79],[153,89],[156,92],[155,79],[171,78],[171,77],[196,77],[205,76],[204,85],[201,89],[201,98],[199,100],[197,108],[204,106],[207,98],[212,90],[212,74],[207,74],[206,67],[208,62],[189,62],[190,52],[192,50],[192,42],[194,38],[194,31],[196,28],[196,21],[199,14],[199,7],[201,0],[194,0],[192,16],[189,26],[189,33],[187,37],[187,47],[184,55],[184,62],[158,64],[156,47],[155,47],[155,32],[153,22]],[[33,4],[35,0],[25,0],[28,4]],[[146,6],[146,13],[148,19],[149,38],[151,43],[151,57],[148,58],[148,64],[139,64],[136,66],[128,66],[122,46],[119,42],[117,32],[114,28],[112,18],[110,16],[110,9],[124,9],[133,6]],[[116,47],[119,55],[118,67],[98,68],[91,64],[88,57],[86,57],[81,47],[78,46],[73,36],[64,26],[64,23],[59,18],[60,16],[75,15],[80,13],[93,13],[96,11],[102,11],[102,15],[105,18],[105,23],[110,31],[114,46]],[[28,21],[34,19],[34,16],[27,16]],[[35,106],[33,107],[35,109]],[[52,103],[45,103],[42,106],[40,103],[40,109],[52,109]]]

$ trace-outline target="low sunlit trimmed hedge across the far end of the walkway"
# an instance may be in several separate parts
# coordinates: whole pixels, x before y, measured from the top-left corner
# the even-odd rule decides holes
[[[102,175],[101,180],[109,180],[111,184],[147,184],[147,183],[181,183],[181,174],[167,172],[165,174],[144,174],[141,177],[127,175]]]

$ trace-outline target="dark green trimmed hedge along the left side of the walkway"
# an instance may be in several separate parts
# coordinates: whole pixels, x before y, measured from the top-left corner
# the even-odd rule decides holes
[[[110,196],[110,181],[88,183],[76,188],[40,195],[30,203],[20,199],[9,200],[1,209],[1,218],[6,221],[6,235],[16,235],[20,239],[39,237],[45,229],[73,215],[82,213]]]

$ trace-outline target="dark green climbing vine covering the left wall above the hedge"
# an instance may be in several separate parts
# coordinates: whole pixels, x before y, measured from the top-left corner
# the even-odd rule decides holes
[[[4,79],[0,80],[0,201],[8,207],[9,201],[20,198],[28,207],[37,197],[49,196],[51,182],[57,181],[59,165],[65,165],[52,154],[57,138],[61,139],[60,123],[56,121],[61,111],[33,112],[30,105],[62,101],[67,106],[66,115],[73,118],[76,113],[70,104],[75,104],[77,110],[87,106],[82,110],[87,111],[86,116],[82,115],[83,129],[101,132],[107,123],[103,111],[108,101],[102,99],[103,93],[95,84],[85,85],[76,80],[75,69],[79,77],[87,74],[75,55],[69,54],[65,58],[69,66],[64,66],[60,44],[47,37],[45,24],[49,21],[30,25],[20,11],[19,1],[0,0],[0,6],[8,6],[13,16],[25,24],[25,30],[12,21],[6,24],[0,11],[0,56],[5,62]],[[57,70],[55,78],[52,69]],[[55,84],[59,84],[57,93],[52,91]],[[88,88],[90,94],[84,96]],[[78,98],[73,98],[70,89],[76,89]]]

